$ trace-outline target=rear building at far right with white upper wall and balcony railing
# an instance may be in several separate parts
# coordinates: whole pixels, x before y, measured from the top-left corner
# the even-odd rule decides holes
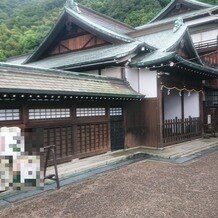
[[[206,66],[218,69],[218,6],[198,1],[174,0],[150,25],[182,17],[188,26],[194,46]],[[211,122],[218,131],[218,79],[204,80],[204,123]]]

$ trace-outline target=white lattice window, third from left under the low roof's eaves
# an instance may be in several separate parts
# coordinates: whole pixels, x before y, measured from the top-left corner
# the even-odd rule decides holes
[[[105,116],[105,108],[77,108],[77,117]]]

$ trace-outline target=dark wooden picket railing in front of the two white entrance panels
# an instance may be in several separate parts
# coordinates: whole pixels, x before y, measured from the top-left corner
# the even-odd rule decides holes
[[[165,120],[163,125],[163,143],[170,145],[201,135],[201,122],[199,117]]]

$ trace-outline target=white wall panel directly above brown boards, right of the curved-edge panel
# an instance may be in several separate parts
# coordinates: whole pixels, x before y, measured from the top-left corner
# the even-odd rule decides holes
[[[139,70],[139,92],[145,95],[145,98],[157,97],[157,75],[155,71]]]

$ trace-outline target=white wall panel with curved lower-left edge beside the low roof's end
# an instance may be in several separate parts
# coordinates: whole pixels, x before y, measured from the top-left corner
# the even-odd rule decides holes
[[[130,86],[137,92],[139,92],[139,72],[138,69],[126,68],[125,69],[126,80]]]

